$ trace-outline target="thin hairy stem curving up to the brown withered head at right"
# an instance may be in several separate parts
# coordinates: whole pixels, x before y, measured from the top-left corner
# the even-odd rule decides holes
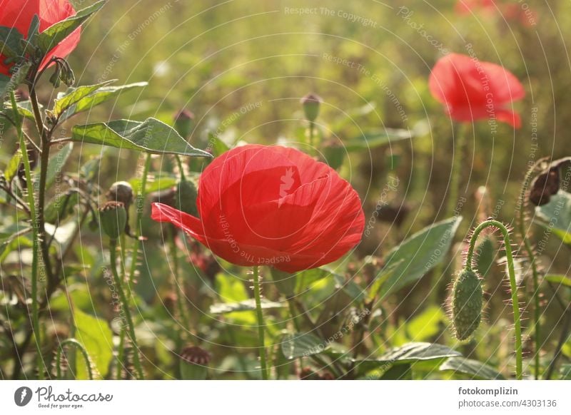
[[[540,163],[540,162],[538,162]],[[535,171],[535,167],[537,163],[532,166],[525,175],[524,184],[520,191],[520,198],[518,203],[520,205],[520,212],[519,212],[519,220],[517,220],[517,230],[520,233],[520,237],[523,242],[523,247],[525,248],[525,252],[527,253],[527,258],[530,261],[530,267],[532,271],[532,278],[533,278],[533,337],[534,337],[534,346],[535,346],[535,355],[533,357],[534,360],[534,377],[535,379],[539,379],[540,377],[540,350],[541,350],[541,339],[540,339],[540,319],[541,319],[541,308],[540,308],[540,278],[539,272],[537,271],[537,262],[535,262],[535,254],[533,252],[532,245],[530,240],[527,238],[527,232],[525,229],[525,195],[527,194],[527,185],[530,182],[533,172]]]

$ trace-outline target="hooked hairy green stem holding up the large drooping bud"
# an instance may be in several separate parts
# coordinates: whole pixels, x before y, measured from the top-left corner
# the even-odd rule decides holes
[[[513,261],[512,246],[510,241],[510,232],[502,222],[497,220],[485,220],[480,223],[474,230],[470,238],[470,246],[468,247],[468,255],[466,255],[466,268],[472,270],[472,262],[474,257],[474,248],[476,240],[480,232],[486,227],[496,227],[502,232],[505,245],[505,256],[507,258],[507,273],[510,277],[510,289],[512,294],[513,322],[515,326],[515,377],[517,380],[522,379],[522,327],[520,317],[520,305],[517,299],[517,282],[515,281],[515,265]]]

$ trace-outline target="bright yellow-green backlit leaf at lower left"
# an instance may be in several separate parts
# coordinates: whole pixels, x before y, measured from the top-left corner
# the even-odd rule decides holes
[[[76,324],[76,339],[84,345],[89,357],[91,357],[97,372],[105,377],[111,360],[113,359],[113,333],[109,324],[103,319],[93,317],[74,310],[74,322]],[[83,362],[78,357],[76,379],[89,379]]]

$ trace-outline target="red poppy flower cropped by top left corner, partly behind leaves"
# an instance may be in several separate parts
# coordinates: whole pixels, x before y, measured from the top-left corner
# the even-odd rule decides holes
[[[40,19],[39,31],[44,31],[59,21],[76,14],[74,7],[68,0],[0,0],[0,26],[15,27],[26,38],[34,15]],[[73,51],[77,43],[81,28],[77,28],[61,43],[49,51],[40,69],[44,68],[50,58],[58,56],[65,58]],[[5,65],[6,56],[0,55],[0,73],[9,75],[11,65]]]

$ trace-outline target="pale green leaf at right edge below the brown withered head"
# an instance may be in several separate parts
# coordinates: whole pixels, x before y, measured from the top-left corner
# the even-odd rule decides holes
[[[540,225],[571,245],[571,195],[559,190],[549,203],[535,207]]]

